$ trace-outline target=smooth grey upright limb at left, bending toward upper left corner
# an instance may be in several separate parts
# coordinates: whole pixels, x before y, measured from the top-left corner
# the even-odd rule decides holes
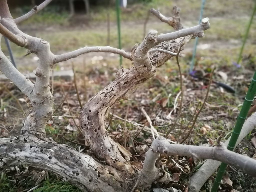
[[[26,42],[25,47],[39,58],[38,67],[34,70],[36,82],[33,90],[26,94],[31,101],[33,110],[25,120],[26,124],[22,129],[22,133],[29,132],[45,137],[45,126],[53,112],[54,97],[50,92],[50,69],[53,66],[54,55],[51,53],[50,45],[47,41],[29,36],[20,31],[13,18],[3,18],[1,19],[1,24],[11,33],[22,37]],[[16,44],[24,46],[19,42],[16,42]]]

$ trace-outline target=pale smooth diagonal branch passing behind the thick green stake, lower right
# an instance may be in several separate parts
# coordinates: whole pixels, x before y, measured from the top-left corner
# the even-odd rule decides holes
[[[250,118],[244,123],[241,133],[239,135],[237,144],[238,145],[244,137],[246,137],[256,127],[256,113],[252,114]],[[229,139],[225,142],[226,147],[228,146]],[[207,160],[199,170],[190,178],[189,191],[199,192],[209,177],[218,169],[221,162],[214,160]]]

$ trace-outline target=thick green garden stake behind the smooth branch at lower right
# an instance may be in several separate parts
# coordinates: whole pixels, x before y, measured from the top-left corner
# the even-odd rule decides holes
[[[247,114],[248,114],[248,111],[249,111],[249,109],[251,107],[251,104],[253,102],[255,93],[256,93],[256,72],[254,73],[254,76],[252,78],[249,90],[248,90],[246,98],[243,102],[241,112],[238,116],[237,123],[235,125],[235,128],[233,130],[233,133],[231,135],[231,138],[230,138],[230,141],[229,141],[229,144],[228,144],[228,150],[230,150],[230,151],[233,151],[235,146],[236,146],[238,137],[240,135],[243,124],[244,124],[244,122],[247,118]],[[221,179],[222,179],[222,177],[225,173],[226,168],[227,168],[227,164],[221,163],[218,174],[217,174],[215,182],[214,182],[214,185],[211,189],[211,192],[216,192],[218,190]]]

